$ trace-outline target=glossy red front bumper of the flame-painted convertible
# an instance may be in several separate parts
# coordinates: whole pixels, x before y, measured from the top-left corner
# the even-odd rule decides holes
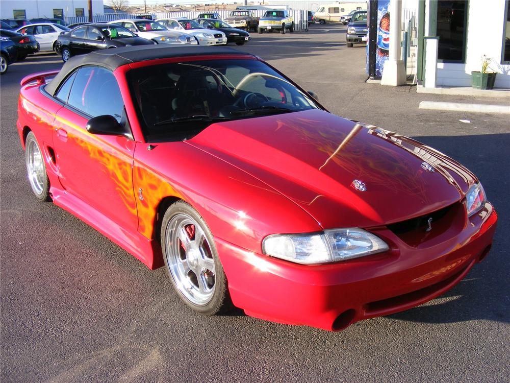
[[[457,235],[411,247],[378,228],[392,250],[334,264],[303,266],[248,252],[215,238],[234,305],[279,323],[341,330],[393,314],[451,289],[487,255],[497,214],[486,206]]]

